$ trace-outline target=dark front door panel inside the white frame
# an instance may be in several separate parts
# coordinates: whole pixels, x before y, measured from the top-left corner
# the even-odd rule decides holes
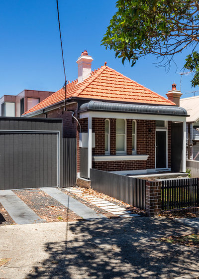
[[[156,168],[167,168],[167,131],[156,131]]]

